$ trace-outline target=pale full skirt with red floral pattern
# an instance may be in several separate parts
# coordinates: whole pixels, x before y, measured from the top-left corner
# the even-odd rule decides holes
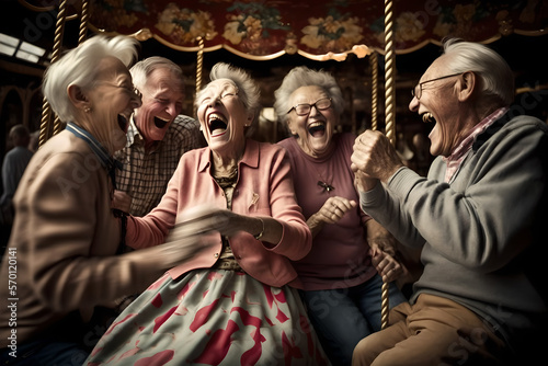
[[[101,338],[84,365],[328,365],[295,288],[196,270],[160,277]]]

